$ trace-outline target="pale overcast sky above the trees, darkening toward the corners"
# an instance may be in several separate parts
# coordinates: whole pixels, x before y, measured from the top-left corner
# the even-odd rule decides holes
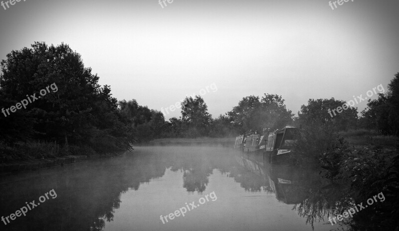
[[[309,99],[365,98],[380,84],[387,90],[399,72],[399,0],[349,0],[337,7],[327,0],[8,5],[0,6],[0,59],[34,41],[64,42],[98,74],[99,84],[111,86],[113,97],[135,99],[167,119],[181,114],[165,108],[193,94],[213,117],[243,97],[265,93],[281,95],[297,114]],[[366,103],[355,107],[360,112]]]

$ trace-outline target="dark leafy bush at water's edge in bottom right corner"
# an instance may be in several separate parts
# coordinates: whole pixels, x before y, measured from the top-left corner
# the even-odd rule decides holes
[[[375,203],[351,224],[354,230],[398,230],[399,155],[379,147],[351,150],[340,163],[338,177],[352,188],[356,202],[365,202],[383,193],[386,202]]]

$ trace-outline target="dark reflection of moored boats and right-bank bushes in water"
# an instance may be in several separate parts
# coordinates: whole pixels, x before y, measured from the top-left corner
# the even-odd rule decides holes
[[[237,163],[246,170],[246,173],[236,176],[238,182],[240,178],[245,178],[251,184],[246,186],[246,190],[263,189],[274,193],[278,201],[293,205],[293,210],[306,218],[306,224],[312,228],[314,223],[329,224],[328,217],[332,216],[332,212],[343,209],[340,186],[321,177],[320,169],[269,164],[267,157],[261,153],[236,154]],[[242,174],[247,176],[242,177]]]

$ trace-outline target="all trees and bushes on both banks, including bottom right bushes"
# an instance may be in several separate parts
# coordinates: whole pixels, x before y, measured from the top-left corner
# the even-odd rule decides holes
[[[110,86],[100,86],[99,77],[66,44],[35,42],[32,48],[12,51],[1,61],[1,71],[0,108],[16,105],[26,94],[38,95],[52,83],[58,87],[26,109],[0,115],[1,163],[115,153],[155,138],[232,137],[294,125],[302,129],[293,164],[318,164],[326,178],[350,186],[343,195],[355,202],[380,192],[390,201],[357,214],[351,228],[399,230],[394,220],[399,217],[399,73],[387,93],[368,101],[361,117],[353,107],[331,117],[328,109],[345,103],[334,98],[309,99],[295,117],[281,96],[264,94],[242,98],[215,119],[200,96],[186,98],[182,116],[166,121],[161,112],[136,100],[113,98]]]

